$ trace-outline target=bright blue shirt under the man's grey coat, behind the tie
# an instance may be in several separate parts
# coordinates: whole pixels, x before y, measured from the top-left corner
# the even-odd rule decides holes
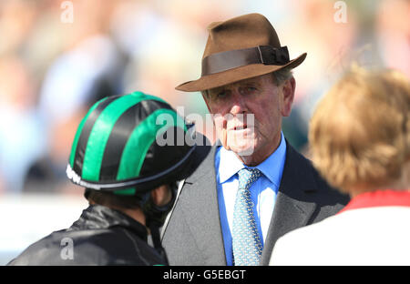
[[[254,204],[256,224],[261,236],[262,246],[268,234],[271,223],[276,195],[281,184],[283,167],[286,159],[286,142],[281,133],[281,144],[260,165],[259,177],[251,185],[251,199]],[[220,208],[220,224],[222,228],[223,243],[227,265],[232,265],[232,236],[233,207],[238,191],[238,171],[246,167],[232,151],[219,147],[215,155],[215,168],[217,174],[218,203]],[[251,167],[252,168],[252,167]]]

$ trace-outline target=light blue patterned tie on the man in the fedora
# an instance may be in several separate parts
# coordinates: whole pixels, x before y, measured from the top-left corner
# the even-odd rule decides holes
[[[261,177],[257,168],[242,168],[239,172],[232,225],[232,249],[235,265],[260,265],[261,238],[256,226],[251,200],[251,184]]]

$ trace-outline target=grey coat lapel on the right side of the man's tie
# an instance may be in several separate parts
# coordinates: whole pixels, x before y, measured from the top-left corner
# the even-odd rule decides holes
[[[262,265],[268,265],[276,240],[295,228],[308,224],[317,191],[310,162],[287,143],[281,186],[273,208],[271,224],[262,251]]]

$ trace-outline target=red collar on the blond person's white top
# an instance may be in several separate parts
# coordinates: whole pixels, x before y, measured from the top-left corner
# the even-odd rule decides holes
[[[381,206],[406,206],[410,207],[410,191],[396,191],[391,189],[364,192],[350,202],[339,212],[358,208],[371,208]]]

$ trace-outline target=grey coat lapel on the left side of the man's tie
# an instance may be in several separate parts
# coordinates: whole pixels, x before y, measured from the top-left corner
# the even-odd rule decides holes
[[[216,149],[211,148],[201,166],[203,170],[187,178],[183,188],[183,196],[189,200],[184,202],[186,220],[205,265],[226,265],[215,174]]]

